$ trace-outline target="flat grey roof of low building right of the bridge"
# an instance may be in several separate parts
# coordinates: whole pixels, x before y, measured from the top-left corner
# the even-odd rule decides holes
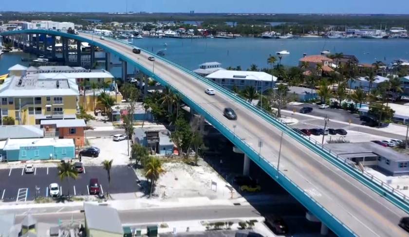
[[[324,146],[342,158],[363,157],[374,154],[394,161],[409,161],[409,156],[374,142],[336,143],[324,144]]]

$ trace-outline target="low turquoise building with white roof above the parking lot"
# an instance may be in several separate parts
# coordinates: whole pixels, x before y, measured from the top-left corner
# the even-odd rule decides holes
[[[30,138],[7,139],[0,142],[3,160],[74,159],[73,139]]]

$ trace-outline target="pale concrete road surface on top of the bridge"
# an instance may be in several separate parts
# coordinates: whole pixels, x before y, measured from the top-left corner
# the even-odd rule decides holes
[[[91,40],[90,35],[80,33],[79,36]],[[148,60],[148,54],[143,52],[133,54],[128,45],[109,39],[95,38],[93,40],[135,59],[136,62],[152,70],[153,62]],[[278,128],[222,93],[216,92],[215,96],[206,95],[205,89],[208,86],[205,83],[164,61],[156,59],[154,73],[200,104],[226,127],[232,129],[233,124],[236,124],[236,135],[256,151],[259,150],[258,140],[261,138],[264,141],[261,149],[262,157],[277,164],[281,136]],[[236,111],[237,121],[223,117],[225,107],[231,107]],[[318,203],[358,236],[409,236],[397,225],[399,219],[406,216],[405,212],[286,135],[282,139],[280,170],[284,170],[285,175],[299,187],[313,193]]]

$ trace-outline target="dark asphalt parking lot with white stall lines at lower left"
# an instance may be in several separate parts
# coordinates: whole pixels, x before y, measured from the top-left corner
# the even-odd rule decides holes
[[[29,201],[36,197],[48,197],[48,187],[57,183],[62,195],[89,195],[88,185],[91,178],[97,178],[101,185],[101,194],[108,191],[107,171],[102,166],[84,166],[84,172],[77,179],[60,180],[56,167],[37,167],[34,173],[26,174],[23,168],[0,170],[0,200]],[[139,191],[136,174],[128,166],[112,166],[110,193],[134,193]]]

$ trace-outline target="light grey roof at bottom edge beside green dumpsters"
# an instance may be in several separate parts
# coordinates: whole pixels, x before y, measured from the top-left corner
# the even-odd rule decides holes
[[[88,229],[124,234],[116,209],[84,202],[84,213]]]

